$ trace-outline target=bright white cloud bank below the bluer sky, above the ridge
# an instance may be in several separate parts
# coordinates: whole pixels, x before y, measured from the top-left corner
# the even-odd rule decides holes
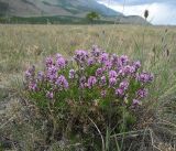
[[[128,2],[128,0],[127,0]],[[150,11],[148,21],[153,24],[176,24],[176,6],[172,6],[170,3],[147,3],[147,4],[139,4],[139,6],[128,6],[118,2],[106,2],[101,1],[100,3],[122,12],[124,15],[141,15],[143,17],[144,11],[147,9]]]

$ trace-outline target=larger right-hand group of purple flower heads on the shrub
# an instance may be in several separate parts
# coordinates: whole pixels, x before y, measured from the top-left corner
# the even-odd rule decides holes
[[[153,75],[150,73],[139,72],[141,67],[140,61],[131,62],[127,55],[111,55],[101,51],[97,46],[92,47],[90,54],[88,52],[85,53],[85,51],[79,53],[76,52],[76,54],[81,54],[75,55],[78,56],[78,58],[75,58],[76,61],[80,60],[79,57],[82,56],[81,61],[86,60],[88,62],[88,66],[85,66],[85,68],[89,67],[90,65],[97,66],[94,75],[89,75],[88,77],[84,75],[85,79],[88,79],[87,83],[86,80],[81,83],[84,88],[92,88],[94,86],[99,87],[99,89],[101,89],[101,87],[107,87],[107,89],[112,88],[114,89],[114,95],[117,97],[127,98],[131,95],[129,94],[131,91],[129,88],[131,88],[130,84],[132,80],[134,83],[139,83],[139,87],[133,90],[136,94],[134,94],[135,98],[133,98],[133,100],[135,100],[134,104],[138,104],[140,99],[147,96],[147,89],[144,89],[143,87],[146,83],[153,80]],[[103,90],[101,90],[100,94],[101,96],[105,96]]]

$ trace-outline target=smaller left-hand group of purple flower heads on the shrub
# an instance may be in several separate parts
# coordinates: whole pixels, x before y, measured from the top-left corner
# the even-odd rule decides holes
[[[67,61],[61,55],[56,54],[54,57],[45,60],[45,69],[35,74],[35,67],[32,66],[25,72],[25,79],[28,89],[40,93],[45,91],[45,96],[50,99],[54,98],[54,90],[61,91],[68,89],[67,78],[61,74],[65,67],[68,66]],[[70,77],[75,77],[75,71],[70,69]]]

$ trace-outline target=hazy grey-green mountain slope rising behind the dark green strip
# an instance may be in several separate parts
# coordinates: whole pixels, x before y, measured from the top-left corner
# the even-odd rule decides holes
[[[65,17],[85,18],[90,11],[101,15],[101,20],[120,23],[144,23],[140,17],[124,17],[122,13],[98,3],[96,0],[0,0],[1,17]],[[145,22],[146,23],[146,22]]]

